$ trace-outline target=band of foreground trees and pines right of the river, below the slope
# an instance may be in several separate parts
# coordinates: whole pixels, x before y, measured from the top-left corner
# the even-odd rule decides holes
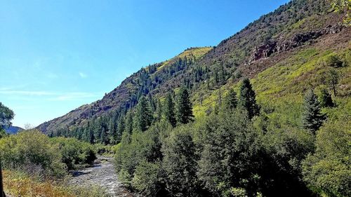
[[[260,114],[249,79],[241,81],[239,94],[230,89],[218,111],[208,114],[201,123],[192,122],[192,104],[186,94],[178,96],[178,102],[183,98],[183,107],[178,104],[177,109],[189,109],[188,112],[178,116],[173,113],[177,110],[173,108],[171,95],[166,96],[165,114],[161,119],[152,123],[144,117],[144,121],[138,121],[139,126],[122,134],[117,146],[117,171],[130,189],[146,196],[350,194],[339,187],[347,182],[348,172],[326,175],[323,181],[314,178],[320,170],[316,170],[319,159],[329,161],[320,152],[326,144],[318,141],[331,138],[325,140],[319,136],[326,135],[328,127],[335,124],[326,124],[326,114],[322,113],[322,107],[334,106],[326,90],[322,90],[319,98],[312,90],[305,94],[302,128],[277,123]],[[137,111],[143,111],[145,104],[140,103]],[[318,133],[323,124],[326,127]],[[333,144],[329,142],[328,146]],[[346,149],[341,153],[346,156]],[[336,160],[339,167],[346,168],[345,161]],[[326,181],[338,190],[320,185]]]

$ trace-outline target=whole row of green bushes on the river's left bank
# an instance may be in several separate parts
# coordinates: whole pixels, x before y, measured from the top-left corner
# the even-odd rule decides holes
[[[62,178],[67,170],[92,165],[95,151],[91,144],[73,138],[49,138],[38,130],[25,130],[0,140],[4,168],[29,175]]]

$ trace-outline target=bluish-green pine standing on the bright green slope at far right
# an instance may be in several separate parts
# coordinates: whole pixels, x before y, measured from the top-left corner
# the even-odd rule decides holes
[[[303,104],[303,128],[315,133],[322,126],[324,120],[325,116],[321,112],[317,95],[314,94],[313,90],[309,90]]]

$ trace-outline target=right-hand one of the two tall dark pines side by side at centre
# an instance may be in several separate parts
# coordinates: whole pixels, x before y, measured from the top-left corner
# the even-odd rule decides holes
[[[178,122],[186,124],[193,121],[194,115],[192,115],[192,103],[190,102],[190,95],[186,88],[180,88],[178,93],[177,103],[177,118]]]

